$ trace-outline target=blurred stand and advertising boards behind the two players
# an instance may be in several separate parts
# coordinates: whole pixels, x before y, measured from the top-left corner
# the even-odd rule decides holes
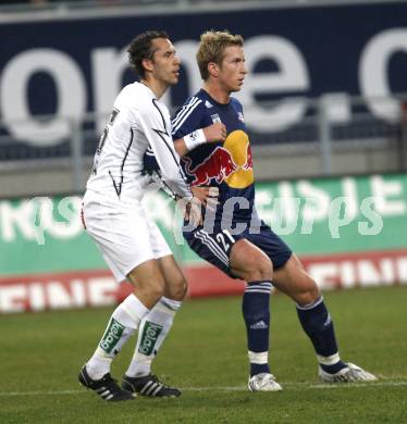
[[[78,211],[106,117],[134,80],[126,46],[156,28],[183,63],[171,111],[200,86],[199,35],[244,36],[237,97],[258,208],[320,286],[407,284],[406,1],[2,0],[0,313],[124,296]],[[147,201],[190,296],[243,290],[177,244],[164,197]]]

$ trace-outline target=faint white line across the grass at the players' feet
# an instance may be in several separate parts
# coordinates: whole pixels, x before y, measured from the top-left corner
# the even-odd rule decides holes
[[[396,377],[397,378],[397,377]],[[405,377],[403,377],[405,378]],[[344,383],[344,384],[314,384],[310,382],[303,383],[283,383],[283,388],[288,387],[289,390],[309,389],[351,389],[360,387],[407,387],[407,381],[386,381],[375,383]],[[182,387],[182,390],[187,391],[246,391],[247,386],[209,386],[209,387]],[[63,396],[63,395],[78,395],[83,394],[84,389],[78,390],[44,390],[44,391],[0,391],[0,397],[18,397],[18,396]]]

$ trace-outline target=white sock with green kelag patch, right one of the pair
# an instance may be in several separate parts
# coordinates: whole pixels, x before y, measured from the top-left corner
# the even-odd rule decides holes
[[[143,319],[138,331],[136,350],[126,375],[140,377],[150,374],[151,362],[169,334],[174,322],[174,315],[181,304],[181,301],[162,297]]]

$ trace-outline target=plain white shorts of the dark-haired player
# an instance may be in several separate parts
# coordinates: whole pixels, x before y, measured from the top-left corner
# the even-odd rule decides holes
[[[118,282],[140,263],[172,254],[139,202],[123,203],[87,191],[84,223]]]

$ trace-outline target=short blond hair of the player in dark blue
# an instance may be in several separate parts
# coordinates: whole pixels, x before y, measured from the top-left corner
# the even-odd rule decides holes
[[[200,36],[196,59],[203,80],[209,77],[208,64],[213,62],[220,65],[224,57],[224,49],[230,46],[243,47],[243,37],[232,35],[229,30],[208,30]]]

